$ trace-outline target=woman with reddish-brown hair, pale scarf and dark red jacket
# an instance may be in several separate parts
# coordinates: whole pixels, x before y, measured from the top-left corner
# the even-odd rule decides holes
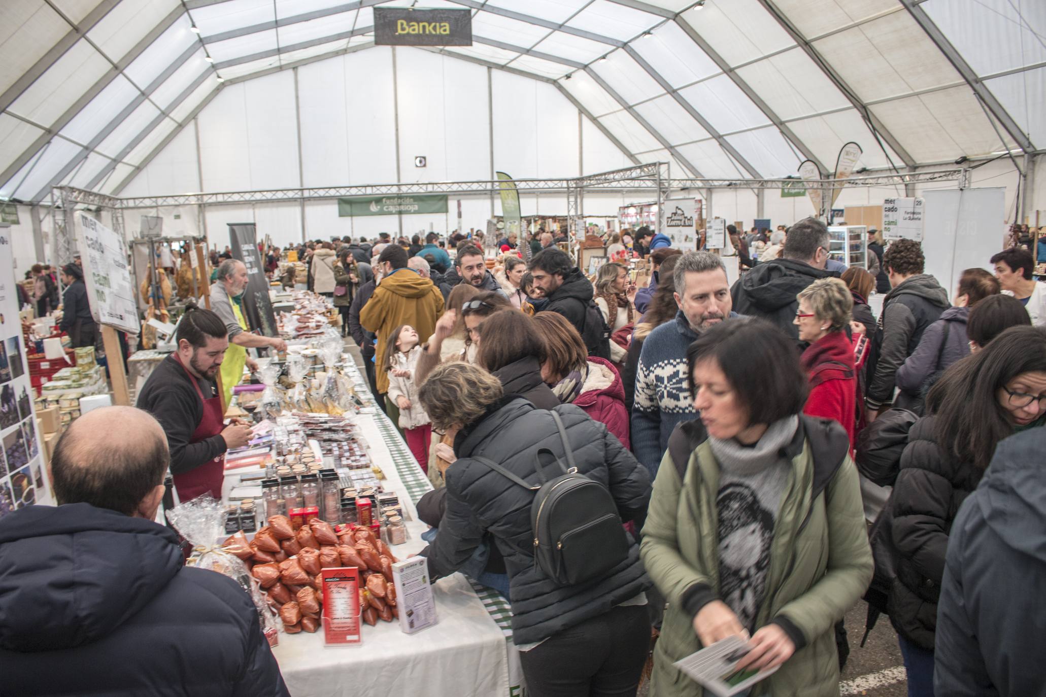
[[[538,312],[533,321],[548,356],[541,376],[560,403],[581,406],[629,449],[629,410],[617,368],[609,361],[589,357],[577,329],[562,315]]]

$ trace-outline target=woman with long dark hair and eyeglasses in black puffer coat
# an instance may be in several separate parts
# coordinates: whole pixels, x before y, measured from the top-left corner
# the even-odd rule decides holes
[[[897,630],[911,697],[933,695],[933,649],[945,552],[955,514],[999,441],[1046,423],[1046,328],[1011,327],[949,368],[927,397],[901,457],[888,511]]]

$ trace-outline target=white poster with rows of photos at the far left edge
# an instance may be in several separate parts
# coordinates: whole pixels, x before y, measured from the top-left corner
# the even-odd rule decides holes
[[[0,230],[0,518],[31,504],[53,504],[18,316],[9,231]]]

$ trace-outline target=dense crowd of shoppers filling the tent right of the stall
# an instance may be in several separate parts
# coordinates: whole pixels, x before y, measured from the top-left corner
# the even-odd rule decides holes
[[[1031,253],[1001,251],[994,274],[945,288],[913,240],[871,231],[866,268],[840,269],[820,220],[749,234],[731,231],[748,268],[733,283],[718,254],[646,229],[609,239],[618,261],[592,278],[544,231],[297,253],[435,485],[417,504],[431,577],[504,595],[529,694],[635,694],[646,672],[651,694],[700,695],[676,663],[740,635],[742,668],[775,670],[759,694],[837,695],[843,619],[862,598],[896,630],[910,696],[1039,694],[1046,288]],[[645,288],[634,255],[651,260]],[[235,296],[242,266],[219,265],[212,298]],[[217,370],[198,349],[243,333],[235,316],[198,317],[170,367],[189,397]],[[136,488],[114,502],[114,465],[70,464],[88,421],[55,451],[60,503],[147,517],[159,470],[134,465]],[[535,520],[553,478],[601,498]],[[5,539],[0,526],[0,562],[20,549]],[[41,636],[25,632],[0,623],[0,666]],[[228,637],[247,645],[237,670],[271,677],[256,638]]]

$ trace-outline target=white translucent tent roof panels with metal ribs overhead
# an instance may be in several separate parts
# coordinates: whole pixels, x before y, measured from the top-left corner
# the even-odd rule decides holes
[[[0,198],[117,193],[224,85],[373,46],[372,7],[469,7],[634,162],[693,177],[951,162],[1046,141],[1046,3],[20,0],[0,4]]]

